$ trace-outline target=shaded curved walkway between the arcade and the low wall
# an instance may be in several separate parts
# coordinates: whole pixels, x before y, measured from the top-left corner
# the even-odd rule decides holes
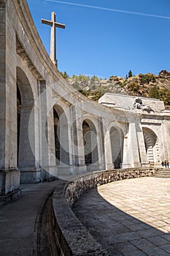
[[[34,228],[42,201],[58,181],[23,184],[22,196],[0,209],[0,255],[28,256],[36,242]]]

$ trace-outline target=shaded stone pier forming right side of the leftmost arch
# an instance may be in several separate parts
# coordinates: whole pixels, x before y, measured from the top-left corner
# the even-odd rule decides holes
[[[36,131],[37,108],[22,105],[20,113],[20,140],[18,151],[18,168],[20,183],[41,181],[39,167],[39,134]],[[37,148],[38,147],[38,148]]]

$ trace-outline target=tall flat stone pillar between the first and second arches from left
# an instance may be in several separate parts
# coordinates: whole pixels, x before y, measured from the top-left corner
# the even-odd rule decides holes
[[[42,180],[58,176],[55,164],[55,140],[53,108],[50,106],[51,90],[46,81],[39,81],[39,164],[42,168]]]

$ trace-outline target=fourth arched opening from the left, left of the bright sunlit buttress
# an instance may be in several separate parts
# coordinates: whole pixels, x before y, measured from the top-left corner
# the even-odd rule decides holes
[[[112,148],[112,163],[115,168],[120,168],[123,162],[123,132],[120,128],[110,129],[110,140]]]

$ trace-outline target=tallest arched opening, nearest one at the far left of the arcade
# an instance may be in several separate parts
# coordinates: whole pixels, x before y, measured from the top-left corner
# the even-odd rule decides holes
[[[32,137],[29,138],[29,125],[34,130],[33,124],[29,121],[31,110],[34,107],[34,95],[31,85],[20,67],[17,67],[17,140],[18,140],[18,169],[20,170],[20,182],[37,182],[36,176],[32,174],[35,171],[36,159],[35,151],[33,153],[30,141],[34,141],[34,132]],[[33,115],[34,116],[34,115]],[[33,118],[34,119],[34,118]],[[35,144],[35,143],[34,143]],[[35,146],[35,145],[34,145]],[[31,172],[31,173],[30,173]]]

